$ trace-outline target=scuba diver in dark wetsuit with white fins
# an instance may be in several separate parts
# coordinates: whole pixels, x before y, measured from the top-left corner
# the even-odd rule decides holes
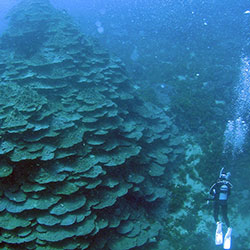
[[[222,222],[219,220],[219,212],[221,210],[223,220],[227,225],[227,233],[224,238],[224,249],[230,249],[232,228],[230,227],[230,222],[227,217],[227,200],[233,185],[228,181],[231,175],[230,172],[224,173],[223,171],[224,168],[221,169],[218,180],[211,186],[209,194],[212,196],[212,198],[208,200],[214,201],[214,220],[217,225],[215,244],[223,244]]]

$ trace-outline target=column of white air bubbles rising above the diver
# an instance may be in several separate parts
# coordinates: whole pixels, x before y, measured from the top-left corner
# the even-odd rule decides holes
[[[227,123],[224,133],[224,152],[231,152],[233,156],[243,152],[248,132],[250,111],[250,60],[241,59],[240,79],[235,87],[236,102],[234,120]]]

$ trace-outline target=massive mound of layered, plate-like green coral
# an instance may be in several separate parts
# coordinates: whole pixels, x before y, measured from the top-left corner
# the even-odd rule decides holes
[[[135,197],[166,196],[178,129],[49,1],[24,0],[9,18],[0,40],[1,247],[146,247],[161,226]]]

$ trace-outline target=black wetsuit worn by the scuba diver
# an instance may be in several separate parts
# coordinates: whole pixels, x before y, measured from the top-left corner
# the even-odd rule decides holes
[[[230,223],[227,217],[227,199],[231,193],[232,184],[227,180],[218,180],[210,188],[210,195],[214,198],[214,220],[215,222],[219,221],[219,210],[221,208],[221,213],[223,219],[228,227]]]

